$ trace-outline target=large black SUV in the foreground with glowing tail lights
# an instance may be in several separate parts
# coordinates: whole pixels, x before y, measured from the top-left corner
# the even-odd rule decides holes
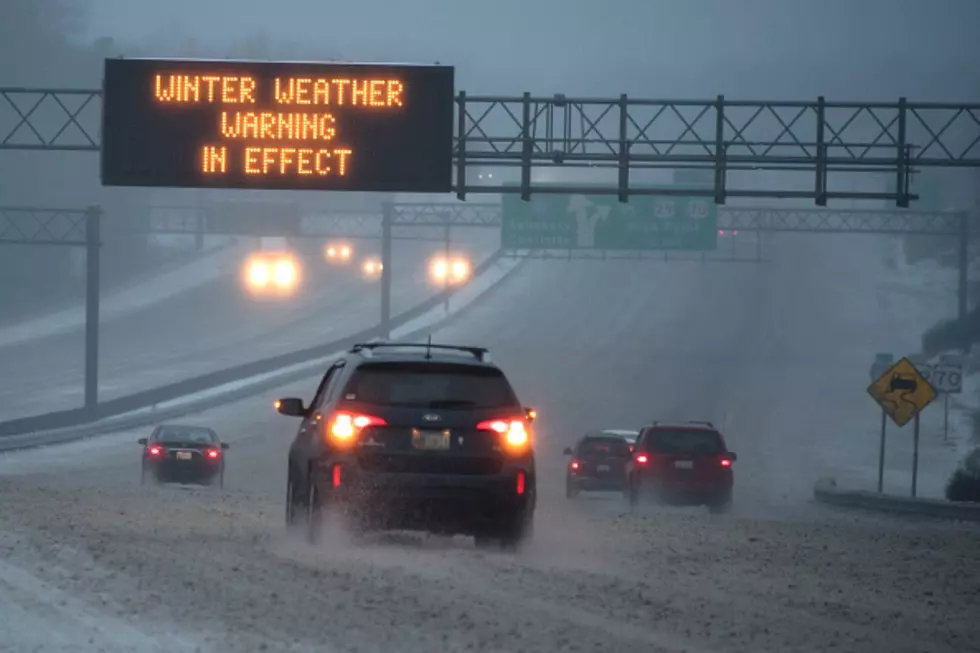
[[[315,542],[323,513],[354,533],[422,530],[515,547],[536,499],[531,421],[486,349],[371,342],[335,362],[289,450],[286,521]]]

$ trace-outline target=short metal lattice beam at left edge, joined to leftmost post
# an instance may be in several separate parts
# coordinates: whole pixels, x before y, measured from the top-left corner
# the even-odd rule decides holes
[[[0,245],[84,247],[86,210],[0,207]]]

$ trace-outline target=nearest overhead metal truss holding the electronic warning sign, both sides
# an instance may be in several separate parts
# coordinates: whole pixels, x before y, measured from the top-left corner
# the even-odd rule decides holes
[[[99,151],[101,91],[0,88],[0,149]],[[890,199],[907,207],[913,170],[980,168],[980,104],[647,100],[532,96],[456,98],[456,193],[630,195],[644,171],[709,169],[713,188],[667,192],[713,197]],[[474,180],[490,167],[516,169],[519,183]],[[532,170],[588,168],[608,183],[542,186]],[[805,174],[806,190],[755,183],[732,187],[732,171]],[[838,191],[831,173],[888,173],[894,192]],[[480,175],[482,176],[482,175]],[[487,175],[489,177],[489,175]],[[560,173],[559,173],[560,176]],[[751,174],[748,175],[751,177]],[[503,175],[506,179],[506,173]],[[473,183],[478,181],[481,183]],[[740,182],[741,183],[741,182]]]

